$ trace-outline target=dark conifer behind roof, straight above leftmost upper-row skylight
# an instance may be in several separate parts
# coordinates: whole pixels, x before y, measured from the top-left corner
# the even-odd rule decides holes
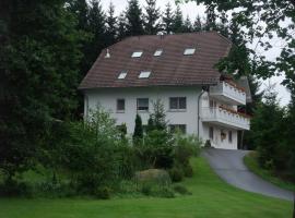
[[[143,35],[143,20],[142,11],[138,0],[129,0],[126,12],[127,17],[127,35],[138,36]]]

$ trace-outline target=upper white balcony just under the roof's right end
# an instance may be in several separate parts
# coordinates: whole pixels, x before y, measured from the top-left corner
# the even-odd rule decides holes
[[[246,105],[246,92],[234,83],[221,82],[210,87],[210,96],[231,105]]]

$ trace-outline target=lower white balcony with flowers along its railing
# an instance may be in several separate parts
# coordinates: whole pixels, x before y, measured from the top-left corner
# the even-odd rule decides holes
[[[202,108],[202,122],[213,123],[236,130],[250,130],[250,118],[225,108]]]

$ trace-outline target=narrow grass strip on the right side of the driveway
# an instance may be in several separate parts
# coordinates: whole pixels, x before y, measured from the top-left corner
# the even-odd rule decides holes
[[[295,191],[295,184],[291,182],[283,181],[282,179],[273,175],[269,170],[261,169],[258,165],[257,153],[251,152],[244,157],[245,165],[256,174],[262,179],[282,187],[285,190]]]

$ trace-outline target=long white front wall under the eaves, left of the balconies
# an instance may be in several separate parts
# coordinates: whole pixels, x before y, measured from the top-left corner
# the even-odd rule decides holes
[[[187,133],[197,134],[198,122],[198,97],[200,87],[149,87],[149,88],[99,88],[85,92],[85,109],[95,109],[97,104],[108,110],[117,124],[126,123],[127,132],[134,130],[134,119],[137,116],[137,98],[149,98],[149,110],[153,111],[153,101],[161,99],[166,110],[166,119],[169,124],[186,124]],[[185,111],[169,111],[169,97],[186,97],[187,109]],[[117,112],[117,99],[125,99],[125,112]],[[88,101],[88,104],[86,102]],[[139,111],[142,123],[148,124],[149,112]]]

